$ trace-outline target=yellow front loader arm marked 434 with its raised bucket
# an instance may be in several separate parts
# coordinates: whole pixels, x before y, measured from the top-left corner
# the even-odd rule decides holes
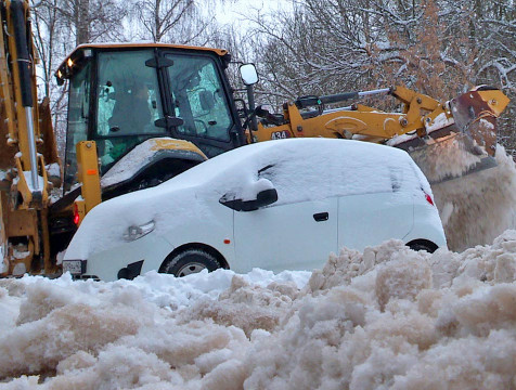
[[[357,103],[324,109],[326,104],[382,94],[397,99],[402,105],[400,113],[385,113]],[[496,117],[508,102],[503,92],[489,87],[477,87],[446,103],[404,87],[305,96],[285,103],[282,116],[259,108],[258,114],[265,120],[258,123],[249,141],[325,136],[387,143],[411,153],[429,181],[438,182],[495,165],[492,157],[496,147]],[[453,174],[436,173],[439,161],[428,160],[425,148],[439,142],[451,143],[451,139],[453,147],[473,156],[470,160],[475,164],[460,174],[456,169]]]

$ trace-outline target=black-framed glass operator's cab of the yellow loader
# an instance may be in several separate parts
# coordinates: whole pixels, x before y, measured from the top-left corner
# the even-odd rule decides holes
[[[207,157],[244,144],[229,60],[224,50],[159,43],[78,47],[56,73],[69,84],[65,192],[77,183],[79,141],[95,141],[101,174],[149,139],[190,141]]]

